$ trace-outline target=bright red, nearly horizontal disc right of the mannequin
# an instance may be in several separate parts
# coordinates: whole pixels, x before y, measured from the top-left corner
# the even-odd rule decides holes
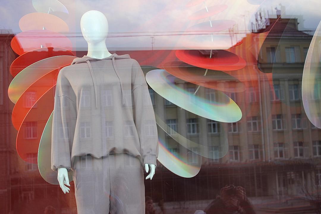
[[[246,66],[243,58],[226,50],[213,50],[212,58],[208,50],[177,50],[175,54],[187,64],[211,70],[235,71]]]

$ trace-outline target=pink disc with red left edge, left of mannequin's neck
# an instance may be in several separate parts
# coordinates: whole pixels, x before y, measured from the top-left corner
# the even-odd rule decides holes
[[[11,47],[18,55],[42,47],[62,47],[72,50],[71,41],[61,33],[50,30],[27,30],[11,40]]]

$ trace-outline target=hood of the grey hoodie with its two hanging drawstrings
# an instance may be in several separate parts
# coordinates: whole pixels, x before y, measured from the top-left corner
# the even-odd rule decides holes
[[[77,64],[77,63],[84,63],[86,62],[88,64],[88,67],[89,67],[89,71],[91,73],[91,79],[92,79],[92,82],[93,82],[93,85],[94,85],[94,90],[95,90],[95,102],[96,102],[96,108],[97,108],[97,84],[96,84],[96,78],[95,78],[95,74],[93,72],[93,69],[92,69],[92,66],[91,66],[91,63],[90,62],[93,62],[93,61],[99,61],[99,60],[112,60],[112,63],[113,63],[113,67],[114,67],[114,70],[115,70],[115,73],[118,77],[118,80],[119,80],[119,84],[120,84],[120,89],[121,89],[121,94],[122,94],[122,99],[123,99],[123,105],[126,104],[125,102],[125,96],[124,96],[124,93],[123,93],[123,86],[122,86],[122,82],[120,81],[119,79],[119,75],[118,75],[118,70],[117,70],[117,66],[116,66],[116,63],[115,63],[115,59],[128,59],[130,58],[129,54],[124,54],[124,55],[117,55],[116,53],[108,56],[108,57],[105,57],[105,58],[102,58],[102,59],[98,59],[98,58],[92,58],[90,56],[83,56],[81,58],[75,58],[73,60],[73,62],[71,64]]]

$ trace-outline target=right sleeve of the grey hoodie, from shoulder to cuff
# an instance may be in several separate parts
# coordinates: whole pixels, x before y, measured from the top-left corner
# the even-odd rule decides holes
[[[157,166],[158,133],[155,114],[143,70],[136,60],[134,60],[132,66],[132,95],[134,98],[135,125],[144,164]]]

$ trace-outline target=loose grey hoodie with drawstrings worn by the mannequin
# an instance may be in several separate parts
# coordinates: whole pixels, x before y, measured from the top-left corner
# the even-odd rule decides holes
[[[74,157],[127,153],[156,165],[158,133],[139,63],[128,54],[83,56],[60,70],[52,121],[51,169]],[[129,163],[128,163],[129,164]]]

